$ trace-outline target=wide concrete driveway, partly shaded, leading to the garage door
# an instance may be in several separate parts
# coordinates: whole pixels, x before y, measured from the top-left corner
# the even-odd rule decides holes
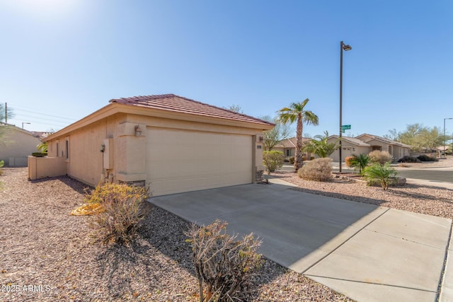
[[[150,202],[200,225],[222,219],[230,233],[253,232],[265,257],[356,301],[436,301],[451,219],[293,189],[240,185]],[[441,301],[453,299],[450,271]]]

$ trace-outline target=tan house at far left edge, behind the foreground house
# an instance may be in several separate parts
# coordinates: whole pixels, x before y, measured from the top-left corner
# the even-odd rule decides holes
[[[4,133],[0,142],[0,161],[4,161],[5,166],[26,167],[27,157],[38,151],[39,137],[12,124],[0,122],[0,127]]]

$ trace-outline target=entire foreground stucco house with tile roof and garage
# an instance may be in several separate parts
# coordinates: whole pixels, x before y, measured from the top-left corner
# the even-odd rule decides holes
[[[48,158],[29,160],[47,163],[29,178],[146,183],[154,196],[247,184],[263,175],[262,134],[273,127],[173,94],[113,99],[45,138]]]

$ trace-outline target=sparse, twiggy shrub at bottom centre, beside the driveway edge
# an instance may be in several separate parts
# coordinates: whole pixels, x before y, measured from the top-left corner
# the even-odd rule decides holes
[[[192,244],[200,302],[246,301],[250,279],[260,268],[257,250],[261,241],[253,238],[253,233],[236,240],[237,235],[226,233],[226,225],[217,219],[201,228],[193,224],[186,232]]]

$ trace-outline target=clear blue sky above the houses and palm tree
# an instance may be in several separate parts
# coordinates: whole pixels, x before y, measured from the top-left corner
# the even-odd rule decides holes
[[[62,129],[112,98],[175,93],[384,135],[453,117],[453,1],[0,0],[0,103]],[[447,132],[453,120],[447,120]]]

